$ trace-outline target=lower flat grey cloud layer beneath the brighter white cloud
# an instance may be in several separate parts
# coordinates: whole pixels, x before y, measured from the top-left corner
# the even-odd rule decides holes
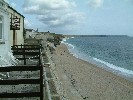
[[[48,25],[49,27],[67,27],[72,25],[77,25],[84,21],[84,16],[82,13],[67,13],[59,16],[47,16],[42,15],[38,17],[41,22]]]

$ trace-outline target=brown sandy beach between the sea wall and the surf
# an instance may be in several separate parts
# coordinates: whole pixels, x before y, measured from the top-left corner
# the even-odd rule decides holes
[[[66,45],[59,45],[51,59],[66,94],[62,100],[133,100],[132,82],[74,57]]]

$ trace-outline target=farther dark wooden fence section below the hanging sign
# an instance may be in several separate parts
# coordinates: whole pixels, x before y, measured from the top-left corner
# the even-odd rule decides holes
[[[28,59],[38,59],[38,64],[41,63],[41,48],[42,45],[13,45],[11,50],[13,51],[13,55],[19,56],[17,59],[23,60],[24,65],[26,65]]]

